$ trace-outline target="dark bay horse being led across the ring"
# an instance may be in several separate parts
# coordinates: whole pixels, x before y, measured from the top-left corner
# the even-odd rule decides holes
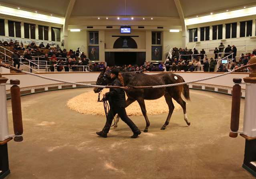
[[[169,72],[154,75],[129,72],[121,72],[121,74],[123,76],[125,86],[159,86],[185,82],[181,76]],[[101,72],[101,74],[99,75],[96,84],[102,86],[111,84],[110,72],[105,72],[105,70],[103,70],[103,72]],[[93,91],[95,93],[99,93],[100,90],[102,90],[102,88],[95,87]],[[179,105],[181,105],[184,113],[184,120],[186,121],[187,125],[190,125],[190,122],[187,120],[186,102],[183,101],[183,99],[181,98],[181,93],[183,93],[185,99],[190,100],[189,88],[187,84],[167,88],[125,90],[125,93],[128,97],[128,99],[126,100],[126,107],[134,101],[138,101],[139,106],[141,107],[141,111],[146,120],[146,127],[144,129],[144,132],[148,131],[148,127],[150,125],[144,100],[158,99],[163,95],[169,107],[169,113],[164,125],[161,127],[161,130],[164,130],[166,125],[169,124],[171,114],[173,113],[174,105],[172,102],[172,98],[177,101]]]

